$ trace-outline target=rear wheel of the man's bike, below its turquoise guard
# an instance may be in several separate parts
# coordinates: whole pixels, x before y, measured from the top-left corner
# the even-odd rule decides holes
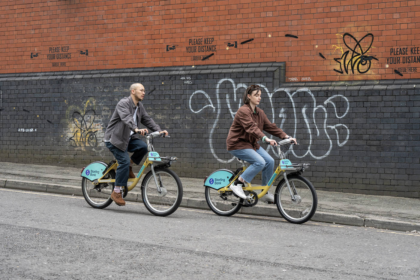
[[[115,179],[115,171],[108,172],[103,179]],[[114,189],[113,183],[100,183],[93,185],[85,177],[81,180],[81,191],[86,202],[96,209],[103,209],[112,203],[111,193]]]

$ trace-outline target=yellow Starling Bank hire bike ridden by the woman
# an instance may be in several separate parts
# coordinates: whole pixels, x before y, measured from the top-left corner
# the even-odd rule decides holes
[[[279,179],[274,193],[274,203],[281,216],[294,224],[307,222],[315,214],[318,197],[312,183],[301,174],[309,167],[308,163],[292,164],[286,159],[284,151],[293,142],[289,139],[281,140],[276,146],[278,151],[278,167],[265,186],[244,185],[242,188],[247,199],[239,198],[229,186],[246,169],[247,165],[238,159],[242,165],[236,172],[228,169],[219,169],[204,180],[205,198],[210,209],[220,216],[231,216],[241,207],[251,207],[257,204],[273,183]],[[257,193],[258,191],[259,193]]]

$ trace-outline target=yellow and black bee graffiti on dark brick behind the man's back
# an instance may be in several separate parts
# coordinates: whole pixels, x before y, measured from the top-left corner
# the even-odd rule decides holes
[[[66,101],[67,104],[67,101]],[[90,100],[87,100],[84,107],[69,106],[67,109],[68,119],[68,140],[72,146],[86,147],[98,146],[98,133],[102,129],[100,123],[95,123],[95,110]]]

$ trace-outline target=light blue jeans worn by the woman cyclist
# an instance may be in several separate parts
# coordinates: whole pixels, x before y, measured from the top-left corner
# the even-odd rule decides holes
[[[229,153],[251,164],[241,174],[245,182],[250,183],[255,175],[262,170],[262,186],[268,184],[273,175],[274,159],[263,148],[260,147],[257,151],[253,149],[233,150]]]

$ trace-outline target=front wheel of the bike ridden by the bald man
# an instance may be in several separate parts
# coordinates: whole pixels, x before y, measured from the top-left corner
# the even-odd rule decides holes
[[[144,206],[156,216],[168,216],[178,209],[182,201],[182,184],[178,175],[168,168],[155,168],[159,189],[152,171],[144,176],[142,199]]]

